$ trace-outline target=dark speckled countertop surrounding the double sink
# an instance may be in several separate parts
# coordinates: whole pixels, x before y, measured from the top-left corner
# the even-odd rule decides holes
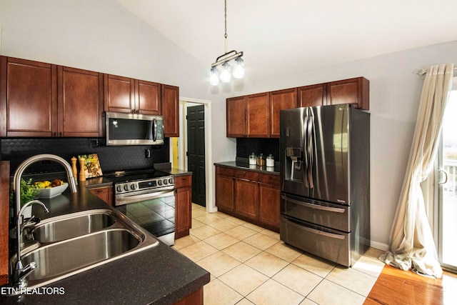
[[[50,213],[34,206],[34,215],[45,219],[87,209],[111,209],[84,184],[79,184],[75,194],[66,189],[61,196],[43,199]],[[174,304],[209,281],[208,271],[160,242],[154,248],[46,285],[64,289],[64,294],[0,296],[0,304]]]

